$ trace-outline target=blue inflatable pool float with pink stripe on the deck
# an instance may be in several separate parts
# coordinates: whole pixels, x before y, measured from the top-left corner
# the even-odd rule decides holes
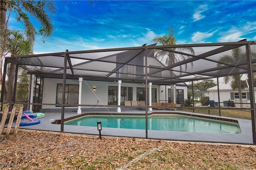
[[[36,125],[40,123],[40,120],[38,120],[36,116],[37,115],[31,113],[31,111],[23,111],[20,119],[20,126]]]

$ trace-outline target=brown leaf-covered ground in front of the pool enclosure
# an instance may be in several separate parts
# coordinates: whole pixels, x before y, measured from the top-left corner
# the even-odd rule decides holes
[[[256,170],[255,145],[172,142],[20,130],[0,143],[0,169]]]

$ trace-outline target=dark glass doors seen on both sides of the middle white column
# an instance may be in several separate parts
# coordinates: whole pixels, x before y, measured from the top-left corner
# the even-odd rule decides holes
[[[117,105],[118,99],[118,86],[108,86],[108,105]],[[121,101],[120,104],[124,105],[124,101],[132,100],[132,87],[121,87]]]

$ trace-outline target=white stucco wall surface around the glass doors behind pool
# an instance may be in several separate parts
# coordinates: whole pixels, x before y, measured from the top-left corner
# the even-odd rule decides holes
[[[62,79],[44,78],[43,96],[42,103],[56,104],[57,84],[62,84]],[[78,80],[66,80],[66,84],[79,84]],[[118,86],[118,83],[113,82],[99,82],[99,81],[88,81],[82,82],[82,101],[81,104],[88,105],[108,105],[108,86]],[[123,83],[123,87],[132,87],[132,100],[136,100],[137,87],[145,87],[145,85]],[[90,88],[96,88],[96,90],[90,90]],[[164,87],[164,88],[163,88]],[[157,91],[157,102],[163,102],[160,99],[168,101],[168,88],[170,86],[158,86],[152,84],[152,88],[156,88]],[[187,97],[187,88],[183,86],[176,86],[176,89],[184,89],[184,98]],[[161,92],[163,90],[163,92]],[[56,106],[43,105],[42,109],[60,109]],[[68,107],[77,108],[77,107]],[[83,107],[82,107],[83,108]]]

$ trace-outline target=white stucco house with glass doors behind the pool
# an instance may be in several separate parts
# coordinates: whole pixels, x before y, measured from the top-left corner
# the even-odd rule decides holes
[[[118,82],[100,82],[82,80],[81,104],[86,105],[117,105],[118,104]],[[171,86],[152,84],[152,102],[173,102],[170,101],[173,95]],[[187,98],[186,84],[176,84],[174,88],[176,103],[180,104]],[[44,78],[42,103],[61,104],[62,102],[62,79]],[[78,104],[79,81],[66,80],[66,104]],[[121,83],[120,105],[124,101],[145,101],[145,85],[137,83]],[[58,109],[60,106],[44,105],[42,109]],[[77,108],[77,107],[68,107]],[[83,107],[82,107],[83,108]],[[84,106],[84,108],[87,108]]]

